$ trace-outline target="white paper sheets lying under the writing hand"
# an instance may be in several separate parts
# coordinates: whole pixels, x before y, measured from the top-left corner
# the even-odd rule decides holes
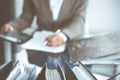
[[[21,47],[28,50],[45,51],[50,53],[63,52],[65,50],[66,44],[55,47],[44,45],[45,38],[53,34],[54,32],[51,31],[37,31],[34,33],[33,38],[26,43],[21,44]]]

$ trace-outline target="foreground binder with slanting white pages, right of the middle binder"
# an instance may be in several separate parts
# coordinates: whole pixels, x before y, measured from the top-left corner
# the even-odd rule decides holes
[[[66,80],[97,80],[81,62],[72,68],[65,62],[65,77]]]

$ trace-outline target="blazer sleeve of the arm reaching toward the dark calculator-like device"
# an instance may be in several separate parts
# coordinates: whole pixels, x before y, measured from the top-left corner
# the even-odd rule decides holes
[[[34,18],[34,6],[31,1],[32,0],[24,0],[23,11],[20,17],[8,23],[15,30],[20,31],[31,25]]]

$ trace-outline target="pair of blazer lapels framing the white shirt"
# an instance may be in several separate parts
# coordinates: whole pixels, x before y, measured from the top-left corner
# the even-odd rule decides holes
[[[43,1],[43,2],[42,2]],[[64,18],[66,18],[66,15],[68,10],[71,9],[71,5],[74,4],[75,0],[64,0],[60,13],[59,13],[59,17],[58,17],[58,22],[63,20]],[[41,0],[41,5],[42,7],[42,11],[43,14],[46,16],[46,18],[50,21],[53,22],[53,18],[52,18],[52,12],[50,10],[50,5],[49,5],[49,0]],[[67,14],[68,15],[68,14]]]

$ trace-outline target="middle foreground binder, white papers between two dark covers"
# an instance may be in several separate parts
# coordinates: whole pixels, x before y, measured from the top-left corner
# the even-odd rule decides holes
[[[36,80],[66,80],[61,67],[58,65],[57,69],[48,69],[47,64],[45,64],[36,77]]]

